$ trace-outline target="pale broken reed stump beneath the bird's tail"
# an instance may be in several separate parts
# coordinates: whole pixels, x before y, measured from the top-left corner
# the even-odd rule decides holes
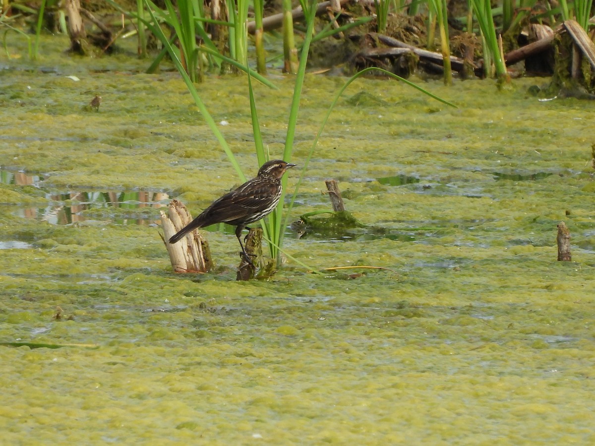
[[[194,230],[171,244],[170,237],[192,221],[192,216],[181,202],[172,200],[167,206],[168,214],[161,211],[161,227],[164,243],[170,255],[171,266],[175,272],[207,272],[213,267],[208,241]]]

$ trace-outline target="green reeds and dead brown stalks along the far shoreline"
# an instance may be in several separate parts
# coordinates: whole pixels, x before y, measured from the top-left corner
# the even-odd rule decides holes
[[[40,33],[67,34],[70,52],[82,55],[109,54],[119,39],[136,38],[139,57],[152,59],[149,73],[167,56],[167,45],[155,34],[158,27],[195,82],[205,73],[245,71],[246,62],[258,62],[256,76],[265,76],[267,67],[296,73],[309,6],[317,17],[308,61],[313,69],[340,67],[340,73],[353,74],[379,67],[405,78],[443,77],[446,83],[452,76],[496,77],[503,84],[511,77],[553,76],[549,96],[594,93],[592,0],[494,5],[484,0],[98,0],[84,8],[78,0],[67,0],[64,7],[42,0],[31,6],[5,2],[0,24],[5,34],[29,40],[32,59],[40,56]],[[8,54],[6,35],[4,46]]]

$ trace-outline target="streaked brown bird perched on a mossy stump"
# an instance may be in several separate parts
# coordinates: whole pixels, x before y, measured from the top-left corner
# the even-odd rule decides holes
[[[201,215],[173,235],[170,243],[176,243],[197,228],[215,223],[227,223],[236,226],[237,241],[240,242],[244,258],[248,259],[242,244],[242,231],[246,225],[264,218],[277,207],[282,191],[281,177],[287,169],[294,166],[295,164],[289,164],[280,159],[265,162],[255,178],[215,200],[211,206],[201,212]]]

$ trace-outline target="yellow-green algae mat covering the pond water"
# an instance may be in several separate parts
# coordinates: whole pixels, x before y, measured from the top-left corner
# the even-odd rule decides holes
[[[195,214],[239,183],[176,74],[75,82],[74,66],[0,73],[3,168],[52,190],[173,191]],[[275,83],[257,87],[272,156],[291,95]],[[342,83],[308,77],[297,164]],[[321,277],[288,262],[235,282],[237,242],[214,232],[215,271],[174,275],[158,228],[25,218],[50,199],[1,184],[0,341],[29,343],[0,347],[4,441],[595,442],[595,105],[539,102],[533,83],[425,84],[458,109],[387,80],[347,90],[294,213],[328,209],[323,180],[336,178],[376,236],[286,249],[316,269],[392,271]],[[244,80],[199,90],[252,175]],[[385,105],[352,105],[361,92]],[[99,112],[85,111],[95,94]],[[572,262],[556,262],[561,220]]]

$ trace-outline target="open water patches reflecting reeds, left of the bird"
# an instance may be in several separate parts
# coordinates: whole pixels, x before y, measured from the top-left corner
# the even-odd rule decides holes
[[[24,172],[0,169],[0,181],[17,186],[35,186],[39,189],[43,178]],[[110,219],[118,224],[159,224],[153,209],[167,206],[170,196],[164,192],[152,191],[81,191],[67,193],[46,193],[51,204],[45,208],[23,207],[17,212],[25,218],[36,218],[56,225],[65,225],[86,219]],[[108,211],[97,212],[93,210]],[[116,210],[118,209],[118,212]],[[111,211],[112,212],[111,212]],[[85,211],[87,211],[85,213]],[[129,212],[127,212],[129,211]],[[89,215],[86,215],[89,214]],[[120,218],[118,218],[120,217]]]

